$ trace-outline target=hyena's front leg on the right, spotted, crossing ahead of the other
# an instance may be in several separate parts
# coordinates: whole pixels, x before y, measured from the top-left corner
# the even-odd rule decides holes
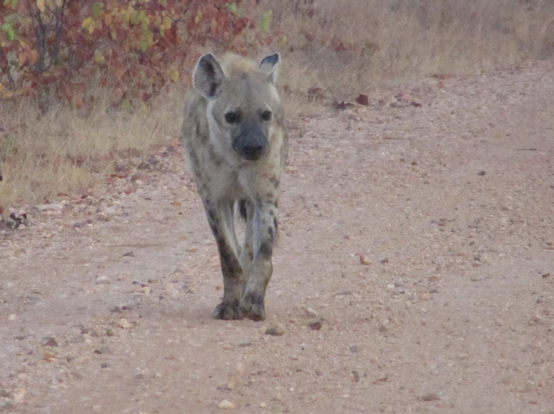
[[[265,319],[265,288],[273,273],[271,255],[277,231],[276,200],[257,201],[251,225],[253,260],[240,309],[249,319],[263,320]]]

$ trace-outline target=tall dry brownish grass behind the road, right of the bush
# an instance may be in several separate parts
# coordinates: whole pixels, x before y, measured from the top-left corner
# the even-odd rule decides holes
[[[291,89],[336,100],[554,54],[552,0],[262,0],[263,9],[286,34]]]

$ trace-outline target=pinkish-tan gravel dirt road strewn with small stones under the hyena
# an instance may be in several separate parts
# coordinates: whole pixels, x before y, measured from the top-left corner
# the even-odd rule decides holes
[[[264,322],[210,318],[181,148],[29,206],[0,234],[0,412],[554,413],[553,79],[293,120]]]

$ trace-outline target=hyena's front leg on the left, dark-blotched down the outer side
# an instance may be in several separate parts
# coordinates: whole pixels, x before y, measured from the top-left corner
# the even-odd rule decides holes
[[[240,299],[243,296],[246,275],[240,265],[240,247],[234,231],[233,204],[204,203],[208,222],[216,238],[219,261],[223,273],[223,300],[213,311],[217,319],[242,319]]]

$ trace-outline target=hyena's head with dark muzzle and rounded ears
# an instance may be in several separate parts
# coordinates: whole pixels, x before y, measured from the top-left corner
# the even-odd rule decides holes
[[[268,150],[271,126],[280,121],[275,87],[279,54],[260,64],[238,55],[224,56],[222,65],[211,53],[198,60],[193,74],[196,90],[208,100],[212,136],[227,141],[241,157],[255,161]]]

